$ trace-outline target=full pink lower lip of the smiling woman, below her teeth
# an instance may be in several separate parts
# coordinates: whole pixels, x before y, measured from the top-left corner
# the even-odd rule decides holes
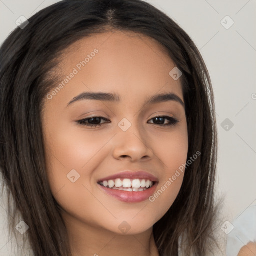
[[[99,184],[98,184],[99,185]],[[147,188],[143,191],[123,191],[118,189],[112,189],[108,188],[102,185],[99,185],[100,188],[106,192],[109,195],[112,195],[113,197],[119,199],[120,201],[124,202],[142,202],[146,199],[148,199],[155,191],[156,189],[156,183],[152,185],[151,187]]]

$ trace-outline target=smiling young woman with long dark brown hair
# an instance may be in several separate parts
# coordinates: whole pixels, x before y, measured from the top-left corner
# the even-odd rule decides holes
[[[17,239],[37,256],[210,255],[214,99],[171,18],[140,0],[64,0],[0,54],[0,169]]]

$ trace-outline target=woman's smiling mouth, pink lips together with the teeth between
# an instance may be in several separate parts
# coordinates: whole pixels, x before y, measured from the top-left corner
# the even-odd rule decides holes
[[[101,178],[97,183],[104,192],[121,201],[140,202],[155,191],[158,179],[143,170],[126,170]]]

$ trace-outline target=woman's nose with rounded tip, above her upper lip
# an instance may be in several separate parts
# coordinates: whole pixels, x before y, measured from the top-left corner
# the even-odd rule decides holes
[[[132,125],[127,131],[120,130],[114,138],[113,157],[121,160],[129,158],[131,162],[149,160],[153,151],[148,145],[146,134]]]

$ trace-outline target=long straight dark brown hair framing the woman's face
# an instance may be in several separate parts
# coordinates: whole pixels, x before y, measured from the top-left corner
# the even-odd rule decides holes
[[[170,17],[141,0],[64,0],[17,27],[0,48],[0,171],[8,194],[9,230],[19,214],[36,256],[70,256],[67,232],[46,177],[41,112],[58,77],[52,70],[72,43],[111,29],[147,35],[182,71],[188,129],[187,166],[180,192],[153,226],[162,256],[205,255],[213,231],[217,134],[210,77],[199,50]],[[13,203],[11,203],[13,198]]]

